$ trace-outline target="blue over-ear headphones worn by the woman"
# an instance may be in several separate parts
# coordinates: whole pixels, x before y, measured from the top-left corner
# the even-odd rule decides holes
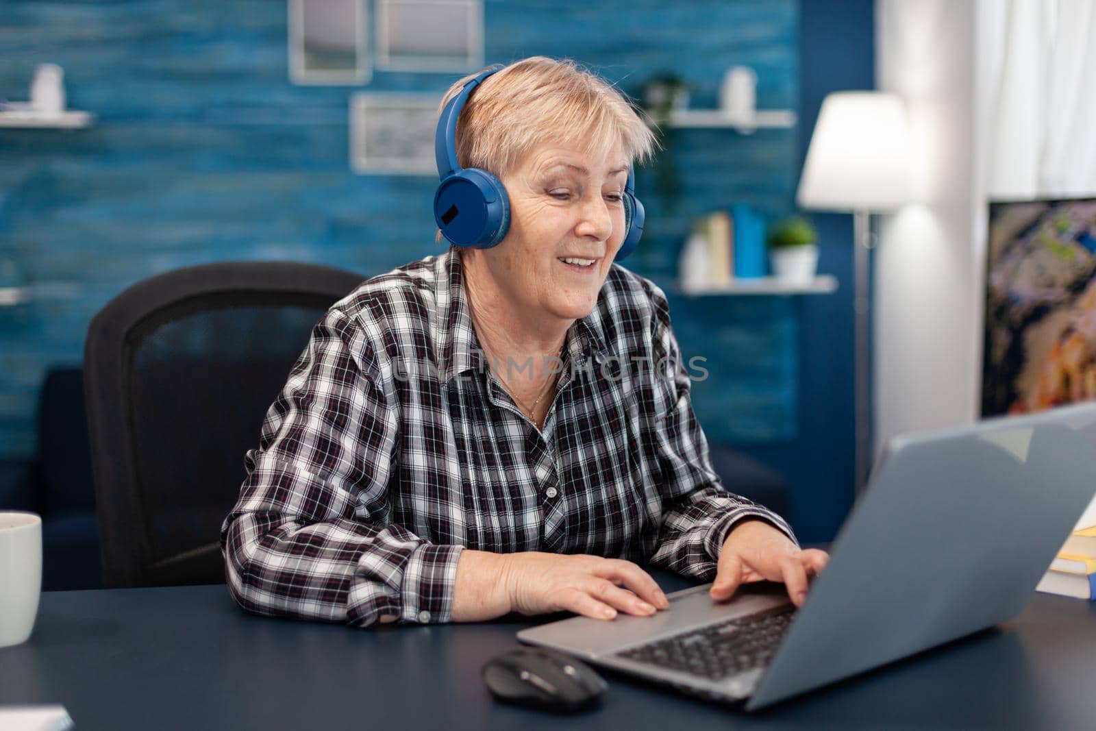
[[[510,198],[502,181],[479,168],[461,168],[457,162],[457,117],[468,96],[483,79],[502,67],[483,71],[449,100],[437,121],[434,157],[442,182],[434,193],[434,220],[442,235],[458,247],[490,249],[510,229]],[[628,256],[643,235],[643,204],[636,197],[636,175],[628,169],[624,186],[624,243],[614,261]]]

